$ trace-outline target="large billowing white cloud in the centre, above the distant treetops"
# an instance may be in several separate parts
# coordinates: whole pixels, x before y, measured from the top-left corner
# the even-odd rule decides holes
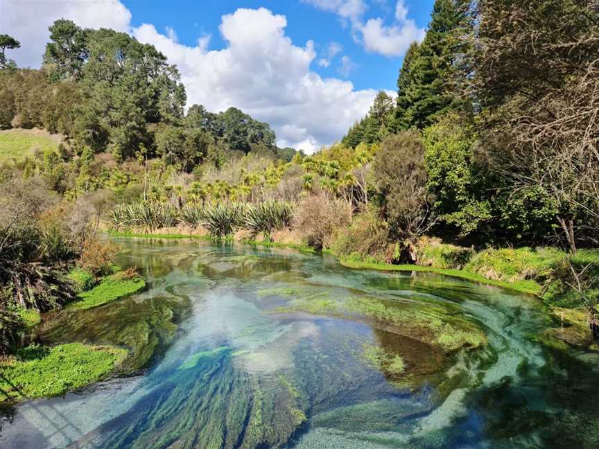
[[[238,9],[223,16],[220,31],[227,46],[220,51],[179,44],[153,25],[133,33],[177,64],[189,104],[211,111],[238,107],[270,123],[279,146],[313,152],[342,137],[367,112],[376,91],[356,91],[349,81],[311,71],[313,42],[294,45],[284,33],[286,25],[286,17],[265,8]],[[329,45],[327,55],[338,51]]]

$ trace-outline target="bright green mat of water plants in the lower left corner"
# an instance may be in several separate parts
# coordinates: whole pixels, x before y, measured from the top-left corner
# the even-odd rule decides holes
[[[126,356],[125,349],[80,343],[20,349],[15,358],[0,362],[0,403],[60,396],[105,377]]]

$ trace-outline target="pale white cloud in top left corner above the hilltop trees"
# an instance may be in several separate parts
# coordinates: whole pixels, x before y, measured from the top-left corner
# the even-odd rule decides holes
[[[21,42],[7,52],[20,67],[40,67],[49,40],[48,27],[56,19],[71,19],[85,28],[113,28],[129,32],[131,12],[119,0],[0,0],[0,30]]]

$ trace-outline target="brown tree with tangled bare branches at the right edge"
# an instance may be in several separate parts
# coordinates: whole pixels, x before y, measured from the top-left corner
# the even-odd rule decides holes
[[[583,0],[480,3],[485,160],[553,210],[571,252],[599,224],[599,17]]]

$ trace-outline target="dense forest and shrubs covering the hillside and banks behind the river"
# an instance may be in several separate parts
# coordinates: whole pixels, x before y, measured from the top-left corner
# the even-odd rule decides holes
[[[177,68],[130,35],[65,19],[50,33],[39,70],[0,35],[0,128],[61,136],[0,167],[0,352],[28,311],[85,288],[82,272],[110,275],[108,230],[466,269],[596,312],[595,1],[436,0],[397,98],[381,91],[314,155],[234,107],[186,108]]]

